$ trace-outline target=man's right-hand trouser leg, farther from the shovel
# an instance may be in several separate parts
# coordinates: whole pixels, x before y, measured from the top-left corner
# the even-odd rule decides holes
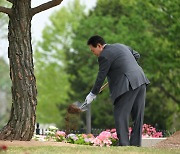
[[[142,125],[144,119],[145,97],[146,97],[146,85],[139,87],[140,90],[135,98],[131,116],[134,122],[133,129],[130,138],[130,145],[141,146],[142,141]]]

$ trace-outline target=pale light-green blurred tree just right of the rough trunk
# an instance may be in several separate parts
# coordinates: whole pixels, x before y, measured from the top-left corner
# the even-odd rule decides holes
[[[35,74],[38,88],[37,121],[40,123],[55,123],[59,128],[65,127],[66,109],[73,103],[68,99],[71,91],[68,78],[71,76],[65,72],[65,53],[72,50],[72,30],[80,24],[84,10],[79,0],[74,0],[55,11],[50,16],[50,24],[43,30],[42,41],[37,44]],[[51,116],[47,113],[51,113]]]

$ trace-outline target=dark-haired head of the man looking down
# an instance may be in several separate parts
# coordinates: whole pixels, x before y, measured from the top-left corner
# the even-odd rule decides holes
[[[105,44],[106,44],[105,40],[99,35],[91,36],[87,41],[87,45],[89,45],[90,50],[96,56],[100,55]]]

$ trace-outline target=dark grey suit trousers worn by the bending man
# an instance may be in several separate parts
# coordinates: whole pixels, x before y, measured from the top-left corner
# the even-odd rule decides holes
[[[119,146],[141,146],[146,84],[120,95],[114,102],[114,119]],[[129,135],[129,118],[133,126]]]

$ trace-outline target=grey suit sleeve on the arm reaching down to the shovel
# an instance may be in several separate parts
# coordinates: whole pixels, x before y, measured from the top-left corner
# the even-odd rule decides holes
[[[97,74],[96,82],[91,91],[95,95],[97,95],[99,93],[99,90],[100,90],[100,88],[106,78],[106,75],[109,71],[109,68],[110,68],[110,62],[105,57],[102,57],[102,56],[99,57],[98,62],[99,62],[99,72]]]

